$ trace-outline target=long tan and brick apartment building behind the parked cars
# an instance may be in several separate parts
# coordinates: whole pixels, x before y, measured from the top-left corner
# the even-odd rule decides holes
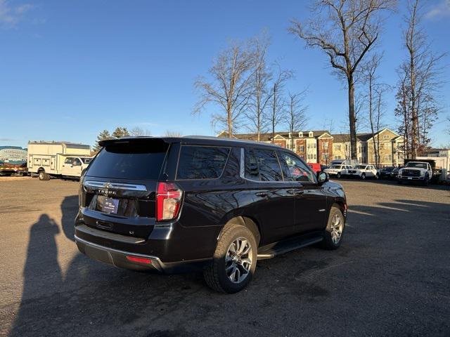
[[[227,137],[226,131],[217,137]],[[255,133],[239,133],[233,137],[243,140],[258,140]],[[308,163],[329,165],[334,159],[350,159],[350,135],[331,134],[329,131],[298,131],[295,133],[277,132],[272,140],[271,133],[261,133],[259,141],[274,143],[278,146],[293,150]],[[403,164],[403,138],[384,128],[372,137],[371,133],[356,135],[358,160],[363,164],[375,164],[375,151],[373,143],[380,144],[380,166],[397,166]]]

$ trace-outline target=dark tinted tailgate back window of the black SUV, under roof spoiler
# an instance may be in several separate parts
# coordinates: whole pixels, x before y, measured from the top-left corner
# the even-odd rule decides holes
[[[158,179],[169,145],[127,142],[108,145],[91,162],[89,176],[118,179]]]

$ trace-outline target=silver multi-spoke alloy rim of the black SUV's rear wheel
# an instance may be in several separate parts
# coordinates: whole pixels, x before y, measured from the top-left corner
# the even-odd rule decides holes
[[[245,237],[238,237],[231,242],[225,256],[225,272],[231,282],[243,282],[252,267],[252,246]]]

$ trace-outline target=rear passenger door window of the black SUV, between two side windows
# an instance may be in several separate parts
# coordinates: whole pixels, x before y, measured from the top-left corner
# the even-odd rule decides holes
[[[280,163],[274,150],[245,149],[245,178],[282,181]]]

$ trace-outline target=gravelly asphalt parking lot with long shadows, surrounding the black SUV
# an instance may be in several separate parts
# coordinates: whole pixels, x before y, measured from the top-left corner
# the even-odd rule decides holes
[[[0,336],[450,336],[449,187],[341,180],[338,251],[259,261],[247,290],[89,260],[78,183],[0,181]],[[282,219],[280,219],[282,220]]]

